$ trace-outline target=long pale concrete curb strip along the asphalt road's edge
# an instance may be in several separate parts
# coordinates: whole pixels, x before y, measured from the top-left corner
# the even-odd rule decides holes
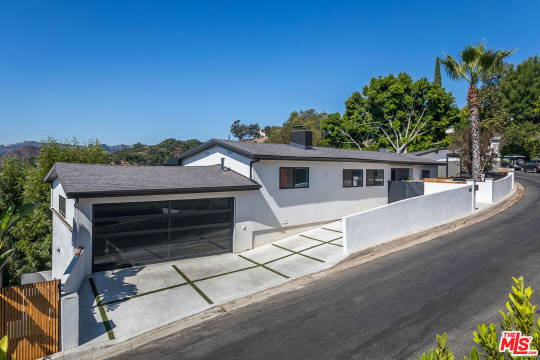
[[[368,262],[378,257],[396,252],[398,250],[414,246],[416,244],[429,241],[437,236],[445,233],[472,225],[489,216],[495,215],[502,210],[513,205],[516,201],[522,198],[524,188],[521,184],[515,182],[514,190],[501,201],[490,205],[487,208],[479,210],[474,214],[465,216],[464,218],[455,219],[447,223],[443,223],[429,229],[420,230],[419,232],[410,233],[399,238],[376,244],[349,255],[346,259],[336,264],[334,267],[319,271],[311,275],[306,275],[298,279],[286,282],[273,288],[269,288],[259,293],[239,298],[226,304],[218,305],[212,309],[193,315],[183,319],[173,319],[167,323],[160,324],[155,328],[147,328],[132,334],[128,334],[113,340],[102,341],[98,343],[80,345],[77,348],[60,351],[56,354],[44,357],[43,359],[50,360],[80,360],[80,359],[99,359],[112,358],[115,355],[120,355],[130,349],[137,348],[141,345],[152,342],[154,339],[163,338],[167,335],[175,334],[179,331],[193,327],[201,322],[212,320],[213,318],[226,316],[232,311],[239,310],[254,302],[263,301],[268,297],[278,295],[284,291],[291,291],[298,287],[303,287],[315,280],[321,279],[350,267]]]

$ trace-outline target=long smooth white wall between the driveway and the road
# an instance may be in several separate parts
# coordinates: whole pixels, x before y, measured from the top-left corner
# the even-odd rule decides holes
[[[473,212],[471,185],[397,201],[343,218],[343,251],[383,243]]]

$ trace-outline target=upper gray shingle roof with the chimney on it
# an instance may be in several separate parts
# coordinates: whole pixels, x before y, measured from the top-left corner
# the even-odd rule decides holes
[[[268,144],[246,141],[229,141],[212,139],[203,145],[168,160],[166,164],[176,165],[178,160],[190,157],[212,146],[222,146],[248,158],[287,159],[287,160],[322,160],[322,161],[363,161],[384,164],[439,165],[436,161],[420,158],[411,154],[397,154],[376,151],[338,149],[333,147],[314,146],[311,150],[286,144]]]

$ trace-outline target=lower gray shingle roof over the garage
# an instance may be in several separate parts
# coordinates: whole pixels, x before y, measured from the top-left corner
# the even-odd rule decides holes
[[[70,198],[256,190],[244,175],[210,166],[96,165],[56,162],[44,182],[60,179]]]

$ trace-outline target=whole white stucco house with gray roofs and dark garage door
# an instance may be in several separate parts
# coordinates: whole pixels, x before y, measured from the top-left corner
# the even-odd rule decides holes
[[[410,154],[210,140],[167,161],[181,166],[56,163],[53,271],[76,249],[86,274],[139,264],[239,253],[388,202],[388,180],[436,177]],[[388,224],[391,219],[381,219]]]

